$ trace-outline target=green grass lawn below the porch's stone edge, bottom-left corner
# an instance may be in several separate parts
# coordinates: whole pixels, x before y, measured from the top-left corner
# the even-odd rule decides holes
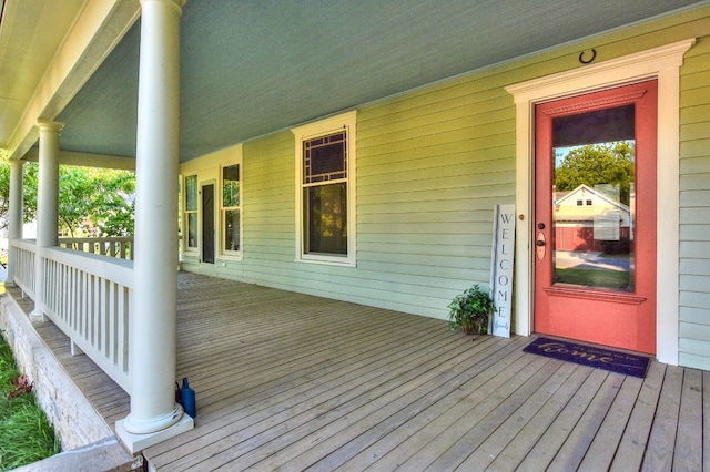
[[[4,288],[4,287],[3,287]],[[17,370],[12,350],[0,336],[0,471],[31,464],[60,452],[59,438],[33,393],[9,398]]]

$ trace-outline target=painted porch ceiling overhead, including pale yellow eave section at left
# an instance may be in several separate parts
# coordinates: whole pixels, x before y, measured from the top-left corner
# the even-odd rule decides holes
[[[61,12],[53,10],[59,3]],[[116,22],[115,40],[102,39],[104,54],[94,54],[85,76],[73,78],[81,85],[71,96],[55,107],[37,104],[48,68],[90,4],[4,0],[0,147],[13,157],[36,141],[34,131],[20,126],[32,111],[65,123],[62,150],[134,155],[140,20],[125,25],[128,13],[106,14],[103,29]],[[138,0],[114,4],[139,11]],[[187,0],[181,160],[699,4],[708,1]]]

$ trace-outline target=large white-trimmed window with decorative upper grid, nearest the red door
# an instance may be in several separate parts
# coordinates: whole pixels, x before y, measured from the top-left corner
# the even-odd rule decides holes
[[[296,259],[355,265],[355,112],[292,130]]]

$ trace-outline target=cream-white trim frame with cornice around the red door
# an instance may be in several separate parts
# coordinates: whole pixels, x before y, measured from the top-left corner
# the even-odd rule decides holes
[[[536,103],[658,80],[657,349],[659,361],[678,365],[678,274],[680,207],[680,66],[694,38],[598,64],[509,85],[516,103],[516,322],[532,331],[532,182]],[[661,250],[662,248],[662,250]],[[662,280],[661,280],[662,278]]]

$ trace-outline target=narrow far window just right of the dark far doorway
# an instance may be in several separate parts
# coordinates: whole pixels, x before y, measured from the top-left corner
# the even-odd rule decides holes
[[[222,223],[222,254],[239,256],[242,249],[242,203],[241,203],[241,165],[222,167],[220,175],[222,198],[220,215]]]

